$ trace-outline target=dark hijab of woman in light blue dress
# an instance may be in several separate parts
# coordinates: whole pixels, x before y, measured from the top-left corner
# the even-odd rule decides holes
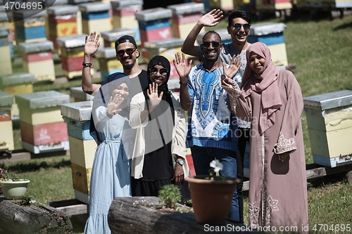
[[[93,108],[92,108],[92,113],[96,110],[96,108],[99,108],[99,106],[104,106],[108,107],[108,102],[110,100],[110,97],[112,96],[113,90],[116,89],[120,84],[126,83],[128,87],[131,87],[130,83],[130,78],[127,77],[125,73],[122,72],[116,72],[111,76],[108,76],[108,79],[104,80],[101,83],[101,86],[99,88],[99,92],[96,93],[96,96],[93,98]],[[123,117],[127,117],[130,111],[130,96],[127,97],[127,99],[121,103],[119,106],[119,109],[122,109],[120,112],[118,112],[118,115],[121,115]],[[89,126],[89,133],[93,136],[93,138],[96,140],[96,143],[101,143],[104,139],[99,139],[99,134],[96,134],[98,129],[96,129],[96,125],[98,124],[96,122],[97,120],[91,115],[91,122]]]

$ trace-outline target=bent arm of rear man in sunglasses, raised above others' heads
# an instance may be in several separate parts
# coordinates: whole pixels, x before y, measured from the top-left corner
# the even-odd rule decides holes
[[[199,32],[201,32],[201,29],[203,27],[213,27],[215,25],[218,25],[218,21],[221,20],[222,17],[222,11],[220,11],[219,9],[213,9],[212,11],[203,15],[198,20],[198,22],[196,22],[196,25],[194,25],[191,32],[189,32],[189,34],[187,35],[182,45],[181,51],[183,53],[187,53],[191,56],[199,58],[199,51],[196,46],[194,46],[194,43],[196,42],[196,37],[198,36]]]

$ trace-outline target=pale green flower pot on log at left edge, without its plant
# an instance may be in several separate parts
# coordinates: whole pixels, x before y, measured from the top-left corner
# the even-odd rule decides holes
[[[20,199],[22,195],[27,193],[27,186],[30,180],[20,179],[19,181],[1,180],[0,185],[2,193],[8,200]]]

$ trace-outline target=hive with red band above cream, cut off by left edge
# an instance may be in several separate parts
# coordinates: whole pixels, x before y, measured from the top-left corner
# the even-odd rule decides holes
[[[11,108],[13,96],[0,91],[0,151],[14,150]]]

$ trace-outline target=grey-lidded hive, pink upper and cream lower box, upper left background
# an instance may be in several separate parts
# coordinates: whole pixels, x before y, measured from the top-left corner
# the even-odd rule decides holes
[[[32,73],[37,81],[54,81],[54,60],[51,41],[37,41],[18,44],[25,72]]]

